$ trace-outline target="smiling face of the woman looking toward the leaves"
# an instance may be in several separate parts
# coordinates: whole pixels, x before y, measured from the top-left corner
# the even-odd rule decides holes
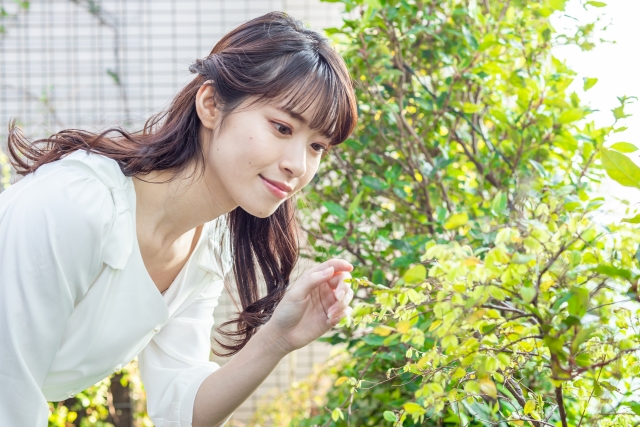
[[[264,218],[311,181],[330,140],[309,128],[314,106],[296,116],[275,104],[249,109],[244,105],[227,117],[222,128],[201,117],[209,129],[202,132],[209,135],[203,138],[205,176],[212,197],[228,211],[240,206]]]

